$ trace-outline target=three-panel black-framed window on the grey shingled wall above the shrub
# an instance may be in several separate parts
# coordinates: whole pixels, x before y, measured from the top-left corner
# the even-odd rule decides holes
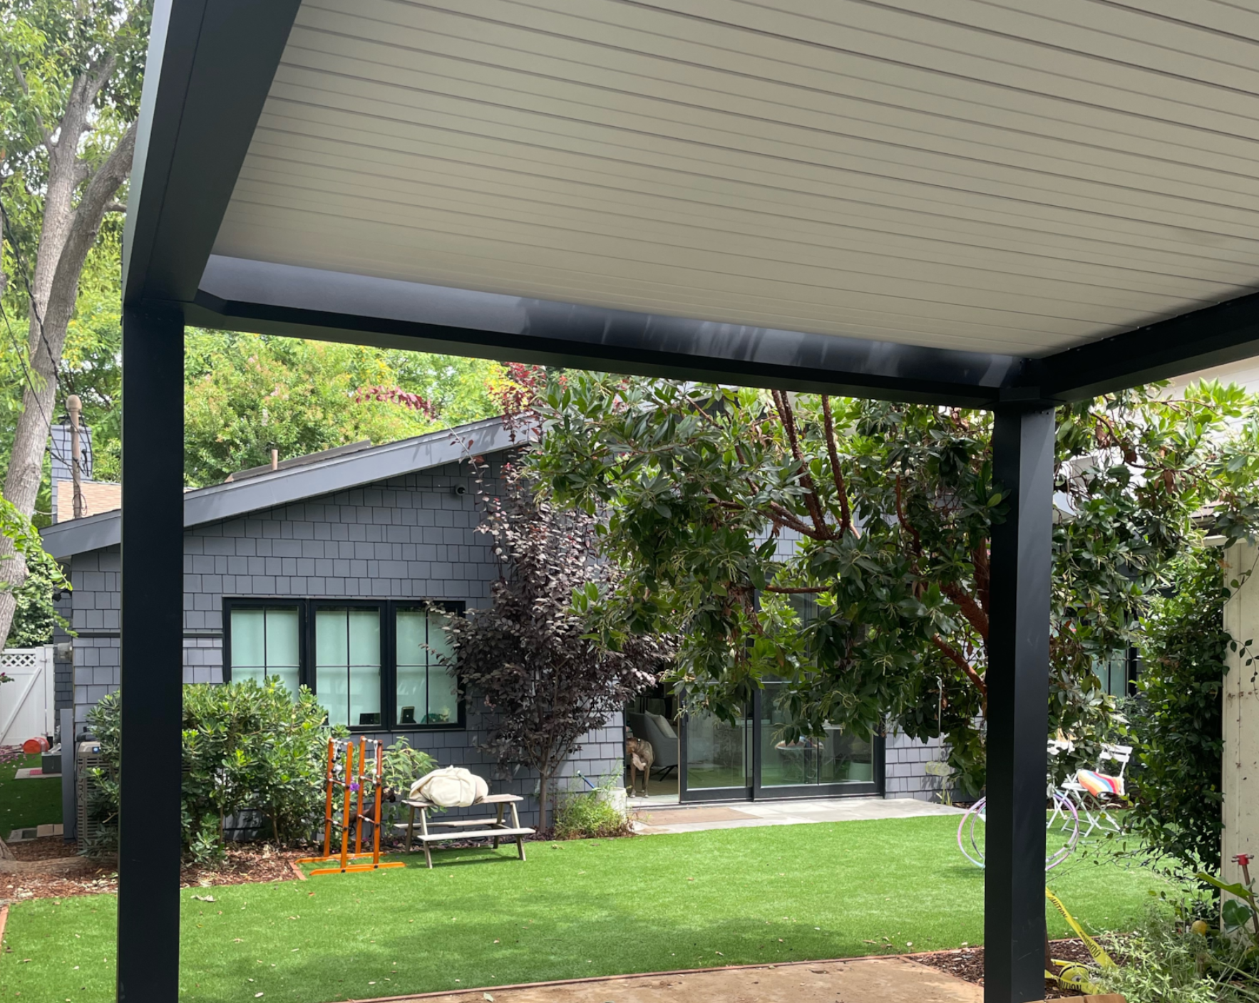
[[[223,600],[224,678],[306,686],[329,722],[364,730],[465,727],[442,622],[463,603]]]

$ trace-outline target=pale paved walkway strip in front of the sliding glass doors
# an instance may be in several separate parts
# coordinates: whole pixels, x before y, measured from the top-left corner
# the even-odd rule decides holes
[[[961,808],[912,798],[817,798],[815,800],[740,802],[738,804],[636,804],[635,831],[642,834],[799,826],[807,822],[856,822],[876,818],[961,815]]]

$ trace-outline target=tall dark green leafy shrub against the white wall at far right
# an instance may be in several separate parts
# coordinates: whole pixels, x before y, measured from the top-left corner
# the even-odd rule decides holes
[[[1228,586],[1219,551],[1182,556],[1175,593],[1143,620],[1142,675],[1126,707],[1136,748],[1127,827],[1146,852],[1183,868],[1220,860],[1220,690],[1231,638],[1224,629]]]

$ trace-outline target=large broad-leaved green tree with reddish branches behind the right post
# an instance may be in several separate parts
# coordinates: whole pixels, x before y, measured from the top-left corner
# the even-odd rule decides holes
[[[796,735],[944,735],[982,783],[990,539],[1007,511],[990,414],[597,375],[539,406],[538,476],[606,515],[623,571],[602,623],[680,636],[692,705],[731,719],[783,678]],[[1219,385],[1059,409],[1051,729],[1095,732],[1097,667],[1200,535],[1195,513],[1219,503],[1216,531],[1245,532],[1254,420]]]

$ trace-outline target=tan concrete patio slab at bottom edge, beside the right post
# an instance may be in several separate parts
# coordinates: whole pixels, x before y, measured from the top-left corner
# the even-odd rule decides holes
[[[798,961],[705,972],[389,997],[393,1003],[982,1003],[983,989],[903,958]],[[374,1003],[384,1003],[376,1000]]]

